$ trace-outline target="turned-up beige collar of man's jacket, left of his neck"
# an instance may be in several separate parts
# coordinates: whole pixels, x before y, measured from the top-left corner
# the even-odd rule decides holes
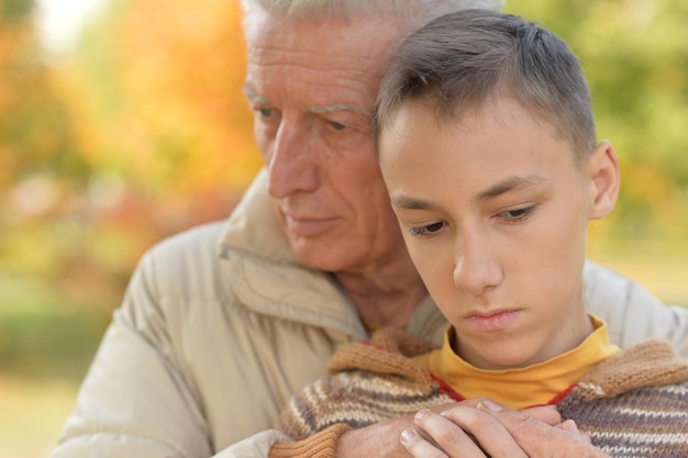
[[[262,314],[367,338],[356,308],[335,279],[301,266],[291,252],[260,170],[228,220],[220,256],[230,267],[228,293]],[[231,288],[230,288],[231,287]]]

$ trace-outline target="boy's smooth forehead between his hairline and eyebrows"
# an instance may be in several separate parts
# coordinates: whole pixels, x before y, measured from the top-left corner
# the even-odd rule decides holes
[[[442,167],[440,164],[448,167],[451,163],[474,160],[482,155],[504,157],[502,167],[508,167],[510,157],[514,166],[523,165],[540,160],[542,148],[551,149],[552,159],[564,166],[578,164],[570,142],[551,123],[510,98],[495,99],[452,114],[439,110],[436,103],[410,100],[399,105],[379,135],[384,172],[385,168],[399,170],[403,167],[401,163],[412,164],[412,167],[430,163],[434,163],[434,167]],[[517,148],[523,154],[515,154]],[[450,153],[442,155],[441,149]],[[455,168],[454,174],[469,168]]]

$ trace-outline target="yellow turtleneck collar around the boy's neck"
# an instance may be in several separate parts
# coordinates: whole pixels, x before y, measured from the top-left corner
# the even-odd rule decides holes
[[[487,396],[511,409],[550,404],[595,365],[620,351],[609,342],[607,324],[589,316],[595,331],[578,347],[524,368],[485,370],[471,366],[452,349],[451,326],[442,348],[417,359],[465,399]]]

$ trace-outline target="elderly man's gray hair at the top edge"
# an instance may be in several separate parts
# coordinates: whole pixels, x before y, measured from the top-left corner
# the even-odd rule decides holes
[[[246,13],[262,10],[273,16],[300,20],[348,20],[389,15],[411,32],[426,22],[454,11],[499,11],[503,0],[241,0]]]

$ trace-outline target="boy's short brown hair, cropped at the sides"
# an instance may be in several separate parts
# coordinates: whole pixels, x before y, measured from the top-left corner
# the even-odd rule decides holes
[[[422,99],[441,119],[451,119],[502,97],[552,125],[578,157],[595,148],[590,91],[578,58],[540,25],[487,10],[437,18],[392,53],[376,104],[376,132],[409,100]]]

